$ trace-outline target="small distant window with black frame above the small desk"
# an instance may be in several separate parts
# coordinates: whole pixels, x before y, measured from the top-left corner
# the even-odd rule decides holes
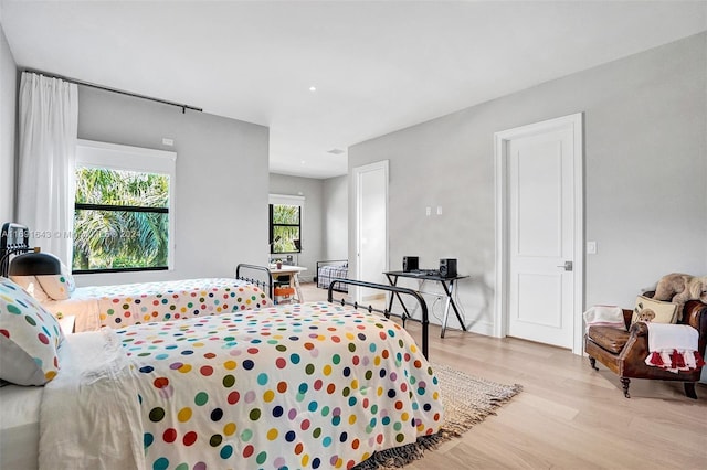
[[[272,254],[302,252],[304,197],[271,194],[270,245]]]

